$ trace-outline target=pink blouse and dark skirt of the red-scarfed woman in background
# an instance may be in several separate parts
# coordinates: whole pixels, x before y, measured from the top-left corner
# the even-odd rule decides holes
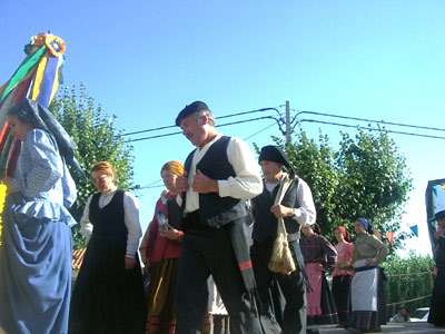
[[[354,245],[343,242],[335,245],[337,250],[337,264],[350,263]],[[350,282],[353,276],[350,272],[336,267],[333,271],[333,297],[337,308],[338,321],[346,323],[350,313]]]

